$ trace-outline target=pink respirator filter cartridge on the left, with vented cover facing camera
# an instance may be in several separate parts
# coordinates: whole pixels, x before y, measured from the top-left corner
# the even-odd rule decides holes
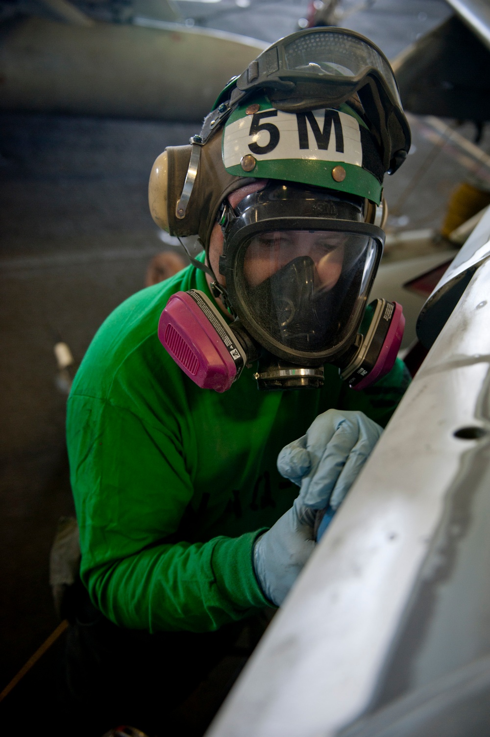
[[[227,391],[246,363],[224,316],[200,290],[177,292],[158,321],[158,338],[197,386]]]

